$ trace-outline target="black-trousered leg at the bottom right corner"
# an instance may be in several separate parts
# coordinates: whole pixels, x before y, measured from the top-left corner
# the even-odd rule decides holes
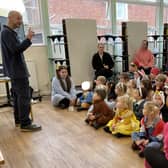
[[[168,160],[164,152],[153,147],[146,147],[144,151],[145,159],[152,168],[167,168]]]

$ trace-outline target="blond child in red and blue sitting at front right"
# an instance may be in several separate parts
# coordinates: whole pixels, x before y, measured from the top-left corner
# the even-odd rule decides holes
[[[140,157],[144,156],[146,146],[154,146],[154,142],[157,142],[157,146],[162,145],[164,122],[160,119],[159,112],[154,102],[148,101],[144,104],[140,131],[132,134],[132,149],[139,150]]]

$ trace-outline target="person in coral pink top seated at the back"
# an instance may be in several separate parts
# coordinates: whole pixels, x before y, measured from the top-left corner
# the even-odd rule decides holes
[[[147,75],[150,74],[150,70],[154,66],[154,56],[148,49],[147,40],[142,41],[140,49],[133,58],[133,62],[138,65],[139,69],[143,69]]]

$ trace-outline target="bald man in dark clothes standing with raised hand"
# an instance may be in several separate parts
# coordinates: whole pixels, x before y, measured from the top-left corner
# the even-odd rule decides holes
[[[29,118],[31,100],[29,72],[23,55],[32,44],[34,32],[29,29],[26,39],[20,42],[15,29],[21,24],[22,15],[17,11],[10,11],[8,23],[1,32],[2,61],[4,74],[11,78],[15,125],[20,126],[21,131],[37,131],[41,130],[41,126],[32,124]]]

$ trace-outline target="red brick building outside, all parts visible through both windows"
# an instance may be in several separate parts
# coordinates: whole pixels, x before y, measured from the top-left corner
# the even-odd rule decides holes
[[[48,3],[51,24],[62,24],[65,18],[90,18],[96,19],[97,25],[111,27],[106,18],[105,0],[48,0]],[[129,21],[147,21],[154,27],[155,13],[154,6],[128,4]]]

